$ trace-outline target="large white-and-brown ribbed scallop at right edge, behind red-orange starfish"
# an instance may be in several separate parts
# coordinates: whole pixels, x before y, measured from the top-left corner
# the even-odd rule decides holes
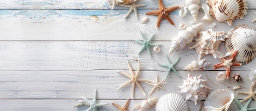
[[[228,31],[228,39],[225,41],[226,51],[239,53],[235,62],[242,65],[248,64],[256,56],[256,30],[248,25],[237,25]]]

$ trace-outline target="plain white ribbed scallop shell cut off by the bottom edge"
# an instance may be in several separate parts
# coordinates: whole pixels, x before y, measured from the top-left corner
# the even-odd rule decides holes
[[[156,111],[188,111],[186,101],[176,93],[162,96],[155,106]]]

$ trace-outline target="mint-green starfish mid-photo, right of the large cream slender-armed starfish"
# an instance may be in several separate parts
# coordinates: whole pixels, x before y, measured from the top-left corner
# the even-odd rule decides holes
[[[178,59],[177,59],[173,64],[170,62],[170,60],[169,60],[169,58],[168,58],[167,55],[166,55],[166,59],[167,59],[168,65],[162,65],[162,64],[159,64],[159,63],[158,63],[159,66],[168,68],[168,71],[167,71],[166,79],[165,79],[165,80],[167,80],[167,78],[168,78],[169,73],[170,73],[171,70],[173,70],[173,72],[174,72],[180,79],[182,79],[181,75],[180,75],[180,74],[176,71],[176,69],[174,68],[174,66],[175,66],[175,65],[178,63],[178,61],[180,60],[180,56],[178,56]]]

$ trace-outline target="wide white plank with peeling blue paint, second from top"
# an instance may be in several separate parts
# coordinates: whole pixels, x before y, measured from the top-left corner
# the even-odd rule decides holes
[[[178,34],[180,22],[187,26],[192,16],[179,17],[179,11],[171,13],[176,27],[163,20],[156,29],[157,16],[144,13],[152,10],[138,10],[139,19],[132,12],[129,18],[123,19],[128,10],[1,10],[0,41],[133,41],[141,39],[139,30],[146,37],[156,33],[154,40],[170,41]],[[234,26],[251,23],[256,18],[256,10],[248,10],[244,19],[235,19]],[[198,23],[204,12],[200,10]],[[149,22],[141,24],[140,19],[149,17]],[[214,31],[228,32],[232,27],[219,23]],[[204,22],[201,31],[211,29],[210,23]],[[15,32],[15,33],[14,33]]]

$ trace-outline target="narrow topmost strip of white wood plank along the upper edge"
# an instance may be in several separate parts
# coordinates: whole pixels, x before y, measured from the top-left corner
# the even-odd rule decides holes
[[[255,9],[256,3],[247,0],[250,9]],[[166,7],[180,6],[185,0],[163,0]],[[201,0],[205,3],[206,0]],[[138,0],[137,4],[146,4],[143,9],[156,9],[158,0]],[[115,9],[124,7],[116,6]],[[111,4],[106,0],[1,0],[0,9],[111,9]]]

